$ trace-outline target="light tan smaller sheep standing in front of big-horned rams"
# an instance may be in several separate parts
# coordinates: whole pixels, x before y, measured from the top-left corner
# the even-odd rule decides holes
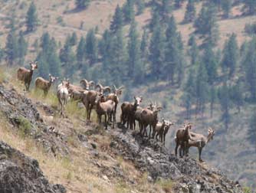
[[[110,116],[113,116],[113,128],[115,127],[116,116],[114,114],[115,110],[115,102],[113,100],[107,100],[106,102],[101,102],[103,98],[103,94],[97,95],[95,100],[96,103],[96,112],[99,119],[99,123],[101,123],[101,116],[105,116],[105,128],[107,129],[107,123],[110,121]]]

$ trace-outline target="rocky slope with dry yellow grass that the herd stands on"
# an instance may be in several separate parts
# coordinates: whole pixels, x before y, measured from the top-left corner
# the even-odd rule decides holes
[[[61,119],[55,106],[11,87],[0,85],[1,140],[35,157],[0,142],[6,192],[242,192],[222,172],[178,159],[159,142],[123,126],[105,131],[74,113]],[[49,184],[38,165],[51,183],[64,187]]]

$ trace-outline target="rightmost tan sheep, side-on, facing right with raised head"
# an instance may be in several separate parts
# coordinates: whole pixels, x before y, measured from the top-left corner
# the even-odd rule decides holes
[[[213,139],[213,136],[215,135],[215,131],[212,128],[208,129],[208,136],[203,136],[202,134],[190,132],[191,139],[189,139],[188,149],[186,150],[186,153],[189,153],[190,147],[197,147],[199,149],[199,162],[203,162],[201,159],[201,153],[202,149],[205,147],[205,145],[210,142]],[[183,154],[185,153],[185,148],[180,147],[179,151],[183,151]]]

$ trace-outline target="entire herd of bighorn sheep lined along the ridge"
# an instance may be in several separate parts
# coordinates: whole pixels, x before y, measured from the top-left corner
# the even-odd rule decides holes
[[[31,62],[30,67],[30,70],[20,67],[17,71],[18,80],[25,83],[26,91],[29,90],[33,72],[38,68],[38,62]],[[38,77],[35,79],[35,88],[43,90],[44,96],[47,96],[48,90],[57,79],[58,77],[54,77],[51,74],[49,74],[49,80]],[[124,87],[117,88],[115,85],[113,85],[112,89],[111,87],[103,87],[100,83],[95,84],[94,81],[86,79],[80,80],[80,86],[71,84],[68,79],[61,80],[61,83],[57,86],[57,99],[61,106],[61,116],[64,116],[67,101],[71,99],[84,104],[88,121],[90,121],[91,111],[95,110],[99,123],[101,123],[101,117],[104,116],[105,129],[107,129],[108,125],[112,125],[114,128],[117,123],[117,105],[120,103],[123,89]],[[142,96],[134,96],[133,102],[123,102],[120,105],[120,122],[129,129],[135,129],[137,122],[141,136],[157,139],[165,146],[166,134],[174,123],[166,119],[159,120],[158,113],[162,110],[162,107],[158,106],[157,103],[150,101],[149,106],[142,107],[140,106],[142,102]],[[149,129],[147,129],[148,126]],[[189,148],[194,146],[199,149],[199,161],[202,162],[202,149],[213,139],[215,131],[209,128],[208,136],[203,136],[202,134],[191,132],[191,129],[192,123],[185,123],[182,128],[176,131],[175,154],[177,155],[179,149],[180,157],[188,155]]]

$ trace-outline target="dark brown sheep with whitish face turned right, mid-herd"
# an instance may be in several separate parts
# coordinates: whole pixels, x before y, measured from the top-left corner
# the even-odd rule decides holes
[[[123,122],[123,125],[127,123],[127,128],[133,129],[133,123],[134,123],[134,115],[136,112],[137,107],[139,104],[143,101],[142,96],[134,96],[134,103],[130,102],[124,102],[121,105],[121,123]],[[135,128],[134,128],[135,129]]]

